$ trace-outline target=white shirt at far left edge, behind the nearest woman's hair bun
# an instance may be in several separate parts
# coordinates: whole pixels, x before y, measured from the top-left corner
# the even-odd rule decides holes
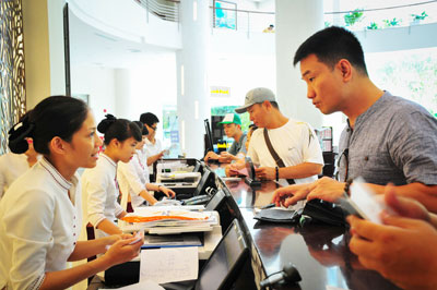
[[[7,153],[0,156],[0,198],[12,182],[28,169],[25,154]]]

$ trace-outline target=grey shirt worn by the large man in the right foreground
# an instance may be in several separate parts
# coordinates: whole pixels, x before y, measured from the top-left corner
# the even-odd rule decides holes
[[[437,184],[437,120],[386,92],[358,116],[354,130],[343,130],[340,154],[340,181],[347,169],[347,179],[363,177],[374,184]]]

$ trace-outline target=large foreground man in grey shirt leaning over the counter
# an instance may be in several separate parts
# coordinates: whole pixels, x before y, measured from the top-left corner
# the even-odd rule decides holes
[[[306,196],[332,202],[343,195],[347,180],[363,177],[376,193],[392,182],[398,195],[437,213],[437,120],[417,104],[378,88],[359,41],[344,28],[331,26],[309,37],[295,53],[312,104],[322,113],[341,111],[349,118],[340,141],[340,181],[322,178],[305,189],[286,188],[275,201],[286,206]]]

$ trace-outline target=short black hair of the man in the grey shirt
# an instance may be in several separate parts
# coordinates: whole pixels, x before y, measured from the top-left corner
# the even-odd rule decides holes
[[[331,26],[311,35],[297,49],[293,64],[296,65],[310,55],[316,55],[320,62],[331,69],[341,59],[346,59],[358,71],[368,75],[362,45],[356,36],[345,28]]]

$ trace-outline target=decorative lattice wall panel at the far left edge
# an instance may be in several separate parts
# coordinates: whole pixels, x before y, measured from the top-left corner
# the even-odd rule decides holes
[[[23,13],[21,0],[0,0],[0,154],[8,131],[26,109]]]

